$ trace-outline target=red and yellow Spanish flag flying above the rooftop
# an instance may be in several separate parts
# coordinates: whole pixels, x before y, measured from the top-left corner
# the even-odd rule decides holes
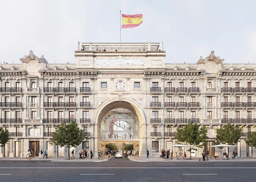
[[[142,14],[124,15],[122,14],[122,28],[138,27],[142,23]]]

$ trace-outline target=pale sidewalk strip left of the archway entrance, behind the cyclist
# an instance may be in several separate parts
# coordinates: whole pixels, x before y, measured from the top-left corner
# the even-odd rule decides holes
[[[0,162],[20,162],[22,161],[23,157],[3,157],[0,158]],[[98,157],[93,157],[92,159],[85,158],[85,159],[71,159],[68,160],[66,157],[49,157],[49,159],[41,159],[39,157],[35,157],[35,162],[104,162],[108,161],[108,156],[102,156],[101,158],[98,159]]]

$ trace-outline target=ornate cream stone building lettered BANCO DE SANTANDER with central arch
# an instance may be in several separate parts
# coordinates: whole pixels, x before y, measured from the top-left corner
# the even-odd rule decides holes
[[[87,137],[75,147],[76,155],[80,149],[96,154],[114,143],[158,157],[175,145],[177,127],[192,122],[207,127],[210,155],[221,151],[208,147],[215,144],[215,129],[232,123],[243,128],[234,147],[238,156],[256,157],[244,141],[255,131],[256,64],[225,64],[214,51],[193,64],[166,64],[159,43],[81,46],[75,64],[49,64],[32,51],[20,64],[2,60],[0,127],[10,132],[10,140],[0,157],[22,157],[27,149],[67,157],[67,148],[50,140],[54,125],[62,122],[78,123]],[[201,157],[202,150],[192,156]]]

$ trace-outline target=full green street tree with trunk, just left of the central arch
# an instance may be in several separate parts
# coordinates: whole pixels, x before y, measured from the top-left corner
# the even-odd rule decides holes
[[[84,131],[78,127],[78,124],[71,122],[61,123],[60,126],[54,125],[55,131],[52,132],[52,141],[55,145],[68,147],[68,159],[70,159],[70,148],[80,145],[80,143],[86,138],[84,137]]]

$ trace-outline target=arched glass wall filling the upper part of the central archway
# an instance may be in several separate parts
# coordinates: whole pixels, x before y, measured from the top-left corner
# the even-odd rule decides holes
[[[108,111],[101,122],[103,139],[138,138],[138,116],[124,107]]]

